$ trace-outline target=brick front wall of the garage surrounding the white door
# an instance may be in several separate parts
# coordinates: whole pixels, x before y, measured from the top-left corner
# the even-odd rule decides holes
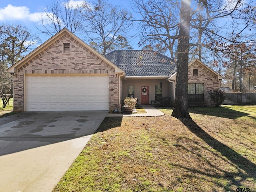
[[[63,53],[64,43],[70,43],[70,52]],[[24,74],[109,74],[109,107],[118,108],[118,74],[114,68],[68,34],[18,68],[14,77],[14,111],[24,109]]]

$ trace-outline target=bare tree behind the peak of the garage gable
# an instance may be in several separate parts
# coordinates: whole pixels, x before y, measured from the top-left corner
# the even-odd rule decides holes
[[[63,28],[72,33],[79,32],[82,22],[80,8],[81,5],[73,4],[70,0],[54,0],[50,5],[46,5],[44,15],[40,19],[41,27],[36,28],[49,36],[54,36]]]

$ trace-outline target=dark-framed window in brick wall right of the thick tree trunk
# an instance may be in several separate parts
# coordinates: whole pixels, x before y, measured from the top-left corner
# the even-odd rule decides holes
[[[189,103],[204,102],[204,84],[203,83],[188,84],[188,102]]]

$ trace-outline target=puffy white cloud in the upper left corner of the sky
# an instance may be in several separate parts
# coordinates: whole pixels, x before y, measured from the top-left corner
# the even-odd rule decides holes
[[[40,20],[43,14],[43,12],[30,13],[26,6],[17,7],[9,4],[5,8],[0,8],[0,21],[29,20],[36,22]]]

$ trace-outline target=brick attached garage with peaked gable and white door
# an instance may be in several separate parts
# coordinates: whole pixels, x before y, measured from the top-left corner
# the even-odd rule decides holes
[[[66,28],[8,70],[14,111],[114,110],[124,71]]]

